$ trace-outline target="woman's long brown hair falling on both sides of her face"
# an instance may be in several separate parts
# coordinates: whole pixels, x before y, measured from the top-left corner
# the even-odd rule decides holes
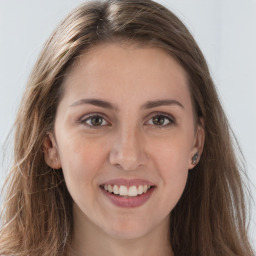
[[[72,199],[62,170],[44,161],[62,80],[81,52],[127,41],[164,49],[185,69],[205,146],[170,214],[177,256],[252,256],[246,229],[242,170],[206,61],[183,23],[150,0],[84,3],[57,27],[35,64],[15,122],[14,164],[6,183],[0,255],[60,256],[72,239]],[[199,119],[198,119],[199,120]]]

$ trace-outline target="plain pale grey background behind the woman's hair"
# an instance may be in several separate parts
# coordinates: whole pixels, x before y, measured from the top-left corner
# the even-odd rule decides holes
[[[81,0],[0,0],[0,146],[44,41]],[[221,101],[256,184],[256,0],[162,0],[204,52]],[[5,153],[4,157],[2,154]],[[8,161],[5,161],[5,163]],[[6,164],[0,165],[0,185]],[[252,194],[256,199],[255,188]],[[253,207],[251,240],[256,248]]]

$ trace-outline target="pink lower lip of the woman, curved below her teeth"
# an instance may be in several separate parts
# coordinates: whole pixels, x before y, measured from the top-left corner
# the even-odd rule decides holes
[[[149,189],[146,193],[143,193],[134,197],[121,197],[115,194],[107,192],[105,189],[100,188],[103,194],[116,206],[125,208],[139,207],[146,203],[154,191],[154,187]]]

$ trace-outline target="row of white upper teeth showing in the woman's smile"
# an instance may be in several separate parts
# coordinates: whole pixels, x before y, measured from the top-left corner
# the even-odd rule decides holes
[[[138,187],[133,185],[130,187],[121,185],[120,187],[118,185],[106,185],[104,184],[103,188],[108,191],[109,193],[114,193],[115,195],[120,196],[138,196],[143,193],[146,193],[151,186],[150,185],[139,185]]]

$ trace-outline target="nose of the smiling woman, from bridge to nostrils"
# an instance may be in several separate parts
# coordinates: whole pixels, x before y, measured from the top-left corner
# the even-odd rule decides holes
[[[123,129],[113,140],[109,162],[126,171],[136,170],[145,165],[148,154],[145,151],[143,136],[135,129]]]

